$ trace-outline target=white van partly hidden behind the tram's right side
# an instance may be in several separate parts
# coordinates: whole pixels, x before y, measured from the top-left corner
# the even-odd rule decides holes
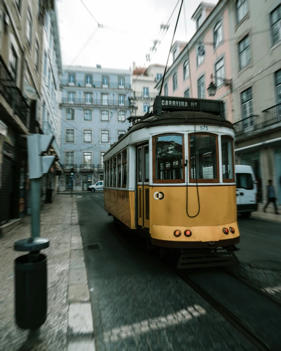
[[[235,166],[237,212],[249,217],[257,210],[257,185],[253,168],[246,165]]]

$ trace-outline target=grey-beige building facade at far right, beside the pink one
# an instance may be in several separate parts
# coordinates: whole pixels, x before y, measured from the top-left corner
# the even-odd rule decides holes
[[[281,1],[229,1],[236,162],[253,166],[259,201],[281,204]]]

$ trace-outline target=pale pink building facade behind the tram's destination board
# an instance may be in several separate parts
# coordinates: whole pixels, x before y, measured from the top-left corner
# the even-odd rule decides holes
[[[198,99],[223,100],[225,116],[232,116],[229,11],[228,0],[215,6],[201,2],[192,16],[196,32],[188,43],[176,41],[171,48],[172,64],[167,70],[163,95]],[[207,88],[213,82],[216,93],[209,96]],[[162,81],[156,88],[159,89]]]

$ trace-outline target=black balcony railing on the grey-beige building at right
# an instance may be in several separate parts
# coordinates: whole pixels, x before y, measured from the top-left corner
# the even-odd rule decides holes
[[[249,132],[261,132],[264,128],[281,122],[281,103],[262,111],[261,115],[252,115],[233,123],[235,135],[240,136]]]

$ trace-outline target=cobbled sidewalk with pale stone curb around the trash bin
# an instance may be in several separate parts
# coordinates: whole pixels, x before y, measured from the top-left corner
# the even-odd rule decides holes
[[[56,195],[41,211],[43,250],[48,256],[48,317],[37,339],[14,319],[14,243],[30,236],[30,216],[0,238],[0,350],[93,351],[92,312],[76,196]]]

